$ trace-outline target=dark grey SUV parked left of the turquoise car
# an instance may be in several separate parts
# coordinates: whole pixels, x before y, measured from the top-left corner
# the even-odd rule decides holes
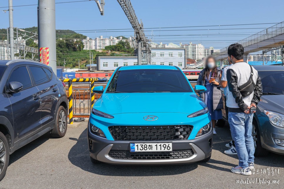
[[[9,155],[39,136],[67,130],[65,84],[49,66],[29,60],[0,60],[0,180]]]

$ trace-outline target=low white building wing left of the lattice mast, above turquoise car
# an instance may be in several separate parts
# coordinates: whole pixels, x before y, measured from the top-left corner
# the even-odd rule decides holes
[[[98,56],[97,70],[115,70],[120,66],[137,65],[137,56]]]

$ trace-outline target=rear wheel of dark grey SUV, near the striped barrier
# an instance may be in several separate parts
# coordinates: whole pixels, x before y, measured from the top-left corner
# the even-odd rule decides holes
[[[67,131],[67,112],[63,106],[59,106],[55,116],[54,128],[51,130],[51,136],[61,138]]]

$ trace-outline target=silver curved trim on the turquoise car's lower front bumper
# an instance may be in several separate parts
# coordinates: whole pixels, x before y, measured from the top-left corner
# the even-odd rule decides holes
[[[149,160],[128,160],[128,159],[114,159],[108,156],[109,151],[111,150],[113,144],[109,144],[105,148],[103,148],[97,155],[97,160],[105,163],[113,163],[113,164],[166,164],[166,163],[193,163],[197,161],[201,161],[205,158],[205,153],[198,148],[195,144],[189,143],[189,147],[193,150],[193,156],[189,158],[181,158],[181,159],[149,159]]]

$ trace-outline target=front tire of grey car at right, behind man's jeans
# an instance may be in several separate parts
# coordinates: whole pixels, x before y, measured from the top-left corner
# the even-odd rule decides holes
[[[253,120],[251,133],[253,136],[253,143],[255,146],[254,156],[258,156],[258,157],[266,156],[269,152],[261,146],[259,129],[258,129],[257,122],[255,120]]]

